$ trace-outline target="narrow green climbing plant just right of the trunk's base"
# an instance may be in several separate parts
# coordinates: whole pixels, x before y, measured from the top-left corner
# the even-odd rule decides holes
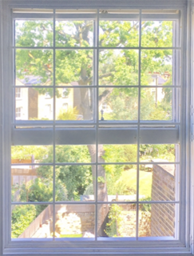
[[[113,204],[109,210],[109,222],[106,223],[105,233],[109,237],[117,237],[121,230],[121,206]]]

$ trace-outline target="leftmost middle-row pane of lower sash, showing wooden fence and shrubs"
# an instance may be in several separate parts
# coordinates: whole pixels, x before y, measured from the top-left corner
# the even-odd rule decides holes
[[[12,202],[53,201],[53,166],[11,166]]]

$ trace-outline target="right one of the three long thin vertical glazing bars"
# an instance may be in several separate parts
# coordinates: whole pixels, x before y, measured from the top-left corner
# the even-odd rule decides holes
[[[139,13],[139,74],[138,74],[138,120],[137,120],[137,220],[136,220],[136,239],[138,240],[139,231],[139,178],[140,178],[140,118],[141,118],[141,10]]]

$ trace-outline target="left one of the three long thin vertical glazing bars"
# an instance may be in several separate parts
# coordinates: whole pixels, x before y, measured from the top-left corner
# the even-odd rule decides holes
[[[55,17],[53,9],[53,240],[55,240]]]

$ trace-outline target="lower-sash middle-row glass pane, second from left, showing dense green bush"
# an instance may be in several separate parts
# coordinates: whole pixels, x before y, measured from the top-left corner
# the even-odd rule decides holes
[[[56,166],[56,201],[93,201],[96,166]]]

